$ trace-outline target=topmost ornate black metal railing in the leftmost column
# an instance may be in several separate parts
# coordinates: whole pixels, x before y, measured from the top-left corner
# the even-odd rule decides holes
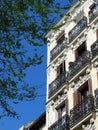
[[[61,39],[59,43],[51,50],[50,52],[50,61],[56,58],[64,49],[65,49],[66,41],[65,38]]]

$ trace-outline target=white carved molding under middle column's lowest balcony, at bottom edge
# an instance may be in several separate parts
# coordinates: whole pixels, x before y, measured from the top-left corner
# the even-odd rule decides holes
[[[90,123],[87,125],[82,125],[82,130],[96,130],[94,119],[90,119]]]

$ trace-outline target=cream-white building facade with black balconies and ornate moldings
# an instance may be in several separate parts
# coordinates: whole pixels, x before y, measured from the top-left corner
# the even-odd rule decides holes
[[[46,130],[98,130],[97,0],[78,0],[62,24],[46,36]]]

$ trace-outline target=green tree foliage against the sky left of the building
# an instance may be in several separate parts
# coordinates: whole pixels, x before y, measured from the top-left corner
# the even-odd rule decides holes
[[[10,102],[17,104],[36,96],[36,88],[24,81],[25,70],[42,63],[43,54],[37,50],[44,45],[49,28],[69,7],[53,0],[0,1],[0,117],[16,117]],[[27,45],[34,47],[32,56]]]

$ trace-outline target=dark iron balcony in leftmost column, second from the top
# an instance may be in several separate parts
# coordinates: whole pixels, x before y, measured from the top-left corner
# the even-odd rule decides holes
[[[49,85],[49,97],[53,96],[61,87],[66,83],[66,72],[60,74],[50,85]]]

